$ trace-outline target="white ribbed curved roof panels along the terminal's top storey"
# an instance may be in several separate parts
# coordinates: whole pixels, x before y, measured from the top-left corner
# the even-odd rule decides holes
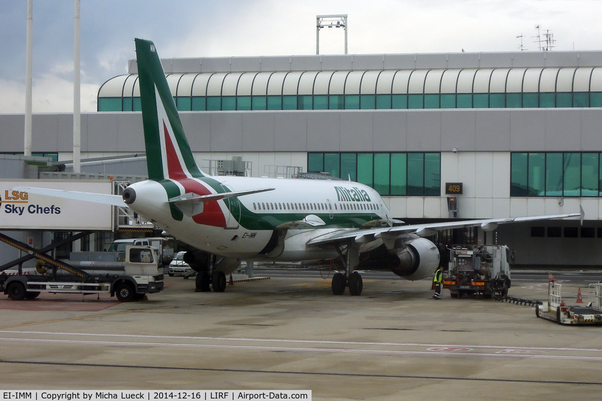
[[[173,73],[175,97],[602,92],[602,67]],[[139,97],[138,76],[109,79],[99,98]]]

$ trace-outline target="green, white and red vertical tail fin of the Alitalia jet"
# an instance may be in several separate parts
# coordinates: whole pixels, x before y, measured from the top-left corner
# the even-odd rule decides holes
[[[149,179],[204,177],[194,162],[155,44],[138,38],[135,43]]]

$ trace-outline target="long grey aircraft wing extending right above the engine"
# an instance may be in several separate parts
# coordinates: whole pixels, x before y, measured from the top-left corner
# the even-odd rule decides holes
[[[434,235],[438,230],[450,230],[452,228],[462,227],[477,227],[480,226],[485,231],[492,231],[497,228],[499,224],[510,223],[510,222],[525,222],[525,221],[539,221],[547,219],[563,219],[568,217],[580,217],[583,224],[583,218],[585,213],[583,207],[580,207],[580,213],[566,213],[563,215],[544,215],[544,216],[529,216],[529,217],[514,217],[504,219],[480,219],[480,220],[462,220],[462,221],[447,221],[438,223],[426,223],[426,224],[408,224],[400,225],[397,227],[378,227],[378,228],[359,228],[357,230],[341,230],[335,231],[334,233],[327,233],[321,236],[317,236],[309,240],[308,245],[324,245],[326,243],[341,242],[343,240],[353,239],[358,243],[366,243],[371,240],[382,238],[382,237],[399,237],[403,234],[417,234],[419,236],[430,236]]]

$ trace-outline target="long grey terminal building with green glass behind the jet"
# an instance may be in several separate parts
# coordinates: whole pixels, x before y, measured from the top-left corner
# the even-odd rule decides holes
[[[162,61],[209,173],[358,181],[406,222],[582,205],[583,225],[440,231],[436,240],[506,244],[518,265],[602,266],[602,52]],[[144,175],[135,60],[128,69],[99,89],[97,112],[82,114],[86,173]],[[23,115],[0,115],[0,127],[2,152],[22,152]],[[68,172],[72,115],[36,114],[33,130],[34,152]]]

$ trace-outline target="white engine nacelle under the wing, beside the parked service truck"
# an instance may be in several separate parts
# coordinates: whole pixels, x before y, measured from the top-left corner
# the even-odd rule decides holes
[[[391,271],[406,280],[422,280],[435,272],[440,257],[434,243],[426,238],[412,239],[394,257]]]

